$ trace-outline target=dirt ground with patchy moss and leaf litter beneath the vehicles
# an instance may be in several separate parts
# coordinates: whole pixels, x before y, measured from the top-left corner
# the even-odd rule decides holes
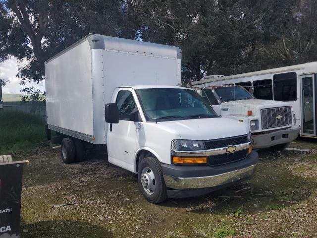
[[[203,197],[147,202],[137,177],[90,160],[65,165],[59,150],[36,148],[22,191],[22,238],[317,237],[317,141],[259,151],[253,179]],[[69,204],[65,206],[56,206]],[[72,205],[71,205],[72,204]],[[54,206],[55,205],[55,206]]]

